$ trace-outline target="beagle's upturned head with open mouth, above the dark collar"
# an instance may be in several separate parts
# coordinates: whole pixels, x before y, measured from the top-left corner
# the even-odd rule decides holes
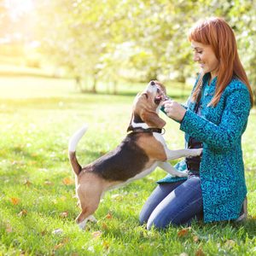
[[[158,115],[160,102],[166,98],[166,87],[158,81],[150,81],[147,88],[138,93],[133,102],[133,113],[127,131],[132,128],[163,128],[166,122]]]

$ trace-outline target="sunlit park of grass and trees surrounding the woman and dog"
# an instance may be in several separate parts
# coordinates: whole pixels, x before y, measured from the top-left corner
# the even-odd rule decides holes
[[[126,135],[131,104],[151,79],[184,102],[198,67],[196,20],[224,17],[256,94],[256,2],[237,0],[0,0],[0,255],[256,255],[256,115],[242,137],[249,218],[146,230],[138,214],[157,169],[106,193],[98,222],[79,230],[67,141],[84,165]],[[183,132],[166,116],[169,148]],[[173,161],[172,164],[175,164]]]

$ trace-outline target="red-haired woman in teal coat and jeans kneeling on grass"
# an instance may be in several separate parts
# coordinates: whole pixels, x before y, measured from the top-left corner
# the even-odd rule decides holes
[[[177,164],[177,170],[188,170],[188,178],[168,175],[158,182],[140,214],[148,229],[202,217],[204,222],[236,220],[247,213],[241,135],[253,93],[234,32],[224,20],[211,18],[190,30],[189,41],[201,75],[185,106],[168,100],[164,111],[180,123],[186,148],[202,147],[203,153]]]

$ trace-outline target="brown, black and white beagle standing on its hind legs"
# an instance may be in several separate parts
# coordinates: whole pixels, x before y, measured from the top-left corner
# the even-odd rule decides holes
[[[167,160],[201,154],[201,148],[170,150],[161,134],[166,125],[159,116],[160,103],[166,99],[166,88],[158,81],[150,81],[146,90],[133,102],[129,132],[119,146],[87,166],[80,166],[76,147],[87,127],[82,127],[69,141],[69,160],[73,167],[76,194],[82,211],[76,218],[84,229],[87,220],[93,220],[102,195],[125,183],[142,178],[157,166],[172,176],[185,177],[187,172],[177,172]]]

